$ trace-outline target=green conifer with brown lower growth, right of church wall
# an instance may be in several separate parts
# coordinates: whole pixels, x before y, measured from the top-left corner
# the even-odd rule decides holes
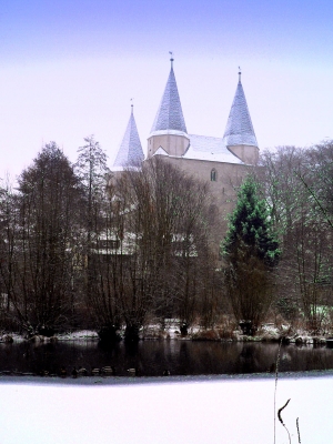
[[[254,333],[272,301],[272,269],[278,264],[280,250],[268,205],[260,199],[253,176],[248,176],[240,188],[222,253],[234,315],[242,321],[245,333]]]

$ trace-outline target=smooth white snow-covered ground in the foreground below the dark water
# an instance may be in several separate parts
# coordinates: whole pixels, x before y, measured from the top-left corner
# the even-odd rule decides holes
[[[0,380],[1,444],[274,442],[274,379],[20,381]],[[283,377],[278,408],[289,398],[282,417],[292,443],[299,442],[296,417],[302,444],[332,443],[333,377]],[[276,444],[284,443],[287,434],[276,421]]]

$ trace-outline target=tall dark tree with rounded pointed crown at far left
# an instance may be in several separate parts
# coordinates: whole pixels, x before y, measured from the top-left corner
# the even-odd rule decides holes
[[[52,335],[73,314],[79,181],[67,157],[51,142],[18,182],[10,206],[2,206],[10,210],[10,249],[2,258],[1,275],[20,327],[28,335]]]

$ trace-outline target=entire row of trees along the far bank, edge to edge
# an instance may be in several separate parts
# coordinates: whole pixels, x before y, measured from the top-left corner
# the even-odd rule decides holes
[[[319,331],[331,313],[333,143],[263,152],[238,190],[222,261],[209,184],[153,159],[110,172],[93,137],[72,164],[54,142],[0,190],[3,329],[27,336],[95,329],[138,340],[176,319],[182,334],[231,314]]]

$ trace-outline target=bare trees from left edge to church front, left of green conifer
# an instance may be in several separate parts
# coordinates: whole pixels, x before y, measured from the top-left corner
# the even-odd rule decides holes
[[[93,327],[135,340],[149,320],[214,322],[206,184],[153,160],[118,178],[91,137],[71,164],[47,144],[0,196],[1,322],[27,336]]]

